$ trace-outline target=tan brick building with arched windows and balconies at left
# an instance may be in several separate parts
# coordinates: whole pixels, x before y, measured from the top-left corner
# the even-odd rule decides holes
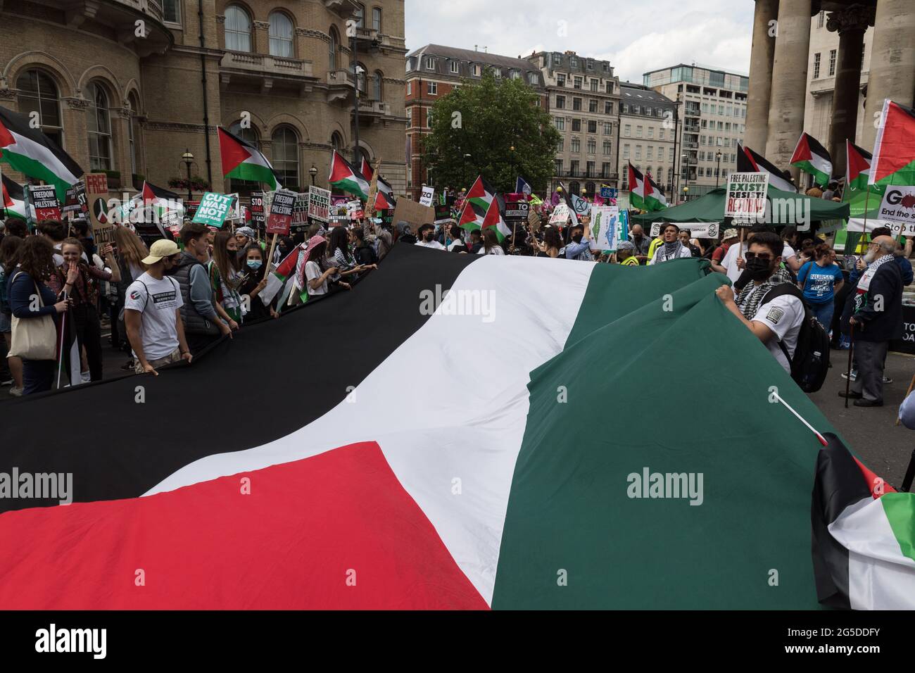
[[[222,125],[303,189],[312,166],[326,186],[331,148],[353,157],[358,129],[403,193],[405,53],[404,0],[16,0],[0,3],[0,105],[38,111],[113,190],[186,177],[186,148],[213,190],[252,190],[223,184]]]

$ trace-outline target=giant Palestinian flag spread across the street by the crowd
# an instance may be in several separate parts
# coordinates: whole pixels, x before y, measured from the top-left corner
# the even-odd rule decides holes
[[[820,444],[770,386],[834,429],[706,264],[397,244],[352,292],[189,366],[7,402],[0,605],[816,609]],[[350,356],[292,356],[328,342]],[[688,357],[656,357],[670,343]],[[466,344],[498,357],[458,357]],[[628,355],[594,375],[607,353]],[[252,422],[160,422],[237,386],[230,359],[269,382],[245,402]],[[713,360],[743,395],[702,384]],[[700,432],[697,404],[738,420]],[[48,418],[73,414],[59,441]],[[129,441],[100,443],[102,426]],[[74,504],[22,497],[23,475],[51,472],[72,474]]]

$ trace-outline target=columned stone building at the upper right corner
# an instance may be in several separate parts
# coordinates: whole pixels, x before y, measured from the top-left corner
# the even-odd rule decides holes
[[[912,0],[756,0],[747,145],[776,166],[807,131],[844,176],[845,139],[869,151],[884,100],[913,97]]]

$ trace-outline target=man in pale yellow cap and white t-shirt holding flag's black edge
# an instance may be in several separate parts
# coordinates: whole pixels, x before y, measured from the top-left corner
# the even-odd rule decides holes
[[[138,277],[124,296],[124,323],[134,349],[137,374],[155,374],[157,367],[184,359],[191,354],[181,321],[181,288],[165,273],[180,261],[181,251],[174,241],[156,241],[143,263],[146,272]]]

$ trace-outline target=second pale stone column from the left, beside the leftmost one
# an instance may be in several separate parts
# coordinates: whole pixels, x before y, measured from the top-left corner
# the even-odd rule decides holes
[[[803,133],[810,17],[811,0],[791,0],[779,4],[766,158],[782,170],[789,168],[794,147]],[[791,168],[791,175],[797,179],[798,169]]]

